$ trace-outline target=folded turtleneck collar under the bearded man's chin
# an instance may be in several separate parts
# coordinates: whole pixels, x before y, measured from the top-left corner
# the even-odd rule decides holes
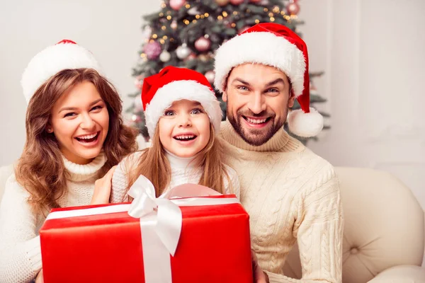
[[[300,141],[290,137],[290,135],[285,132],[282,128],[274,136],[269,139],[265,144],[261,144],[261,146],[252,146],[248,144],[239,134],[234,130],[232,124],[230,124],[229,120],[223,121],[221,123],[221,135],[225,141],[232,144],[232,146],[236,146],[239,149],[244,149],[247,151],[295,151],[300,148],[304,148]]]

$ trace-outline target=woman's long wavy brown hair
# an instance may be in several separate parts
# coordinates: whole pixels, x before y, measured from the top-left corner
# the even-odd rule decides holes
[[[102,177],[126,155],[137,150],[137,131],[123,125],[122,101],[114,86],[94,69],[65,69],[42,84],[28,103],[26,112],[26,144],[16,166],[16,180],[29,193],[28,203],[34,214],[59,207],[57,200],[67,190],[67,177],[55,134],[47,132],[53,105],[73,86],[89,81],[106,103],[109,130],[103,143],[107,158],[98,172]]]

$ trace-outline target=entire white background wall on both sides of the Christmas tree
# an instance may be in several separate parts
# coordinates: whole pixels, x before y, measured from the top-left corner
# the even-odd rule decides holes
[[[16,0],[0,4],[0,166],[21,154],[25,107],[19,80],[47,45],[69,38],[89,48],[125,105],[142,43],[141,16],[159,0]],[[310,143],[335,166],[390,171],[425,207],[425,1],[303,0],[300,27],[310,68],[329,98],[332,129]]]

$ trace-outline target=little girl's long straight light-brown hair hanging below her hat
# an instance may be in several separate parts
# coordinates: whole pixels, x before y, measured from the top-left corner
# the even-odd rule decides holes
[[[226,170],[225,163],[225,148],[219,137],[215,137],[214,127],[210,125],[210,139],[208,144],[202,149],[192,162],[201,170],[199,185],[210,187],[217,192],[225,192],[225,180],[232,192],[232,183]],[[127,166],[130,164],[128,163]],[[152,146],[142,150],[137,168],[125,168],[128,172],[128,187],[131,187],[140,175],[148,178],[155,187],[157,197],[162,195],[171,181],[171,166],[165,156],[164,146],[159,141],[159,127],[155,129],[154,137],[152,138]],[[226,178],[226,179],[225,179]]]

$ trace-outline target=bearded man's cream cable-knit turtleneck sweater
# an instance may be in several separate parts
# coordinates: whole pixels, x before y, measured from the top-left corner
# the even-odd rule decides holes
[[[228,121],[221,135],[232,149],[251,245],[270,282],[341,282],[344,220],[332,166],[283,129],[261,146],[246,144]],[[300,280],[282,271],[296,240]]]

